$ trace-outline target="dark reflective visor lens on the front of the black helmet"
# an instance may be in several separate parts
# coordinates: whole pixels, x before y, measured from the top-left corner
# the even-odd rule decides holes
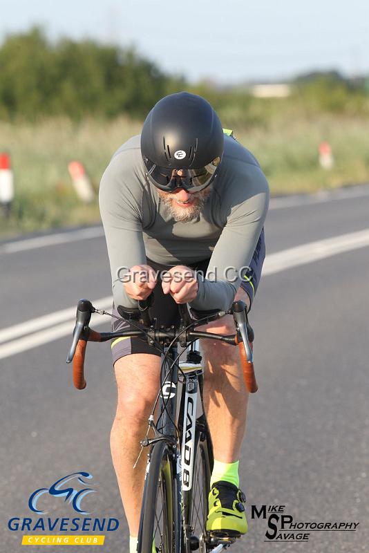
[[[216,169],[220,164],[220,158],[200,167],[200,169],[171,169],[158,167],[150,160],[144,158],[147,169],[147,178],[156,187],[164,191],[173,191],[177,188],[185,188],[190,192],[198,192],[205,189],[214,179]]]

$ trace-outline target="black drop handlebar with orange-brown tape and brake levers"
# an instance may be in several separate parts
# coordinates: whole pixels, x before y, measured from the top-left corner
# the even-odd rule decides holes
[[[108,341],[119,337],[142,337],[142,334],[147,334],[149,331],[148,340],[151,341],[151,343],[153,343],[153,341],[168,343],[169,341],[175,341],[178,339],[181,345],[186,345],[188,341],[193,341],[193,339],[207,338],[224,341],[227,344],[232,344],[234,346],[238,345],[241,366],[243,368],[243,377],[247,390],[250,393],[255,393],[258,390],[252,353],[254,332],[247,321],[247,310],[243,301],[234,301],[231,310],[227,312],[234,316],[234,322],[237,330],[235,335],[218,335],[212,332],[193,330],[196,326],[207,324],[210,321],[214,321],[222,317],[225,315],[225,312],[207,312],[209,315],[198,321],[191,318],[187,304],[178,305],[182,321],[180,328],[157,330],[152,324],[153,321],[149,312],[150,305],[151,301],[146,299],[138,302],[138,312],[135,310],[135,314],[132,312],[124,312],[124,315],[128,316],[128,320],[131,317],[131,320],[135,319],[137,321],[140,319],[144,325],[142,328],[140,328],[137,324],[136,326],[138,326],[138,330],[96,332],[95,330],[89,328],[88,325],[91,320],[91,315],[94,312],[99,311],[93,307],[91,301],[88,301],[87,299],[79,300],[77,304],[76,324],[75,329],[73,330],[73,342],[70,346],[68,357],[66,358],[67,363],[73,361],[73,384],[77,389],[83,390],[86,388],[86,379],[84,378],[84,358],[86,354],[87,341]],[[135,317],[133,315],[135,315]]]

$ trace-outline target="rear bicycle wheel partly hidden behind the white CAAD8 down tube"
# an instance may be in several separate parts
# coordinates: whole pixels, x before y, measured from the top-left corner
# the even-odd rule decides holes
[[[196,424],[196,453],[193,460],[193,484],[191,491],[184,492],[187,553],[191,551],[190,544],[200,542],[200,553],[207,550],[206,523],[208,512],[208,495],[210,491],[210,476],[213,466],[213,453],[210,435],[203,418]]]

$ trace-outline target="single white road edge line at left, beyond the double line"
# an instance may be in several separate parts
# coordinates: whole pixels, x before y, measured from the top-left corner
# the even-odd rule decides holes
[[[100,238],[100,236],[104,236],[104,229],[102,227],[89,227],[88,229],[73,230],[72,232],[59,232],[58,234],[48,234],[47,236],[37,236],[37,238],[26,238],[17,242],[0,244],[0,254],[13,254],[15,252],[35,250],[39,247],[67,244],[89,238]]]

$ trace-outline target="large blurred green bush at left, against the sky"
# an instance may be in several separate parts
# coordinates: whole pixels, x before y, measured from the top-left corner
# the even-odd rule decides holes
[[[52,44],[40,28],[12,35],[0,48],[0,116],[146,115],[182,84],[134,50],[91,40]]]

